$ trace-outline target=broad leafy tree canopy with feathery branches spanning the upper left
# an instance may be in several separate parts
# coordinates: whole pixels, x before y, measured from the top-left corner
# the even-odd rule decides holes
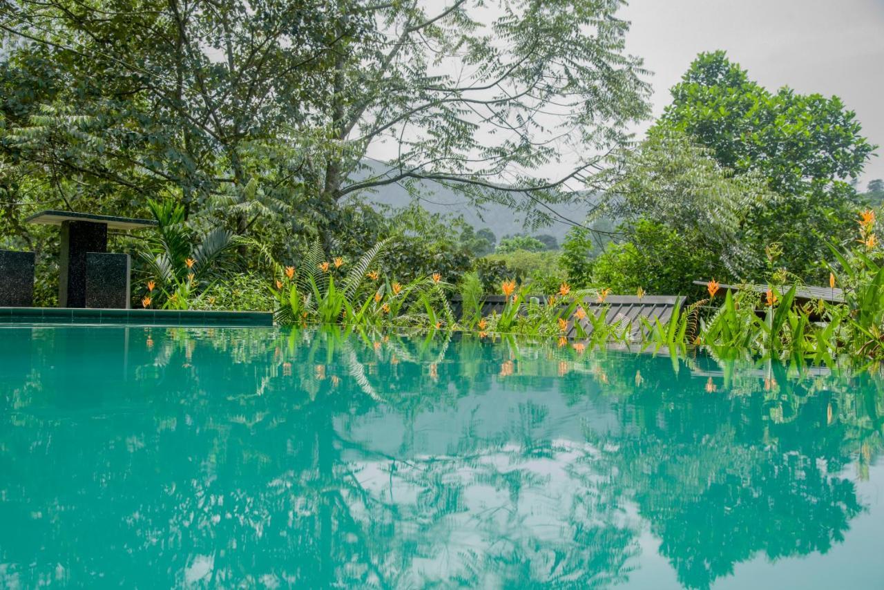
[[[648,113],[621,4],[21,0],[0,25],[27,39],[4,147],[58,203],[98,186],[128,212],[167,193],[239,233],[269,216],[331,243],[344,197],[419,180],[540,223],[537,203],[568,198]],[[596,155],[539,175],[565,135]],[[360,176],[384,143],[395,155]]]

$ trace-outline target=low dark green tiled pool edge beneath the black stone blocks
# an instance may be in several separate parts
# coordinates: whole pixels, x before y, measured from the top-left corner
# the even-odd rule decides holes
[[[0,326],[231,326],[272,327],[270,311],[99,310],[57,307],[0,307]]]

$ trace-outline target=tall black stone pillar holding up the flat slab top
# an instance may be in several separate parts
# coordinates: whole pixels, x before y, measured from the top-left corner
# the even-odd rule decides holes
[[[86,254],[107,251],[107,224],[62,222],[58,307],[86,307]]]

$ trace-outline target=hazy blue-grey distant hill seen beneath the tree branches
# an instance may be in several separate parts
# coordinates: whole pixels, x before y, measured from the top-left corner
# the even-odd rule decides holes
[[[362,174],[361,176],[364,176]],[[432,180],[423,181],[420,204],[423,209],[431,213],[447,213],[462,215],[467,222],[480,229],[488,227],[500,239],[505,235],[522,234],[524,230],[524,218],[517,211],[512,211],[505,205],[498,203],[484,203],[481,208],[470,205],[462,195],[453,192],[451,188],[441,185]],[[527,198],[527,197],[522,197]],[[406,188],[398,184],[391,184],[377,189],[375,194],[363,194],[362,199],[367,203],[377,203],[392,207],[405,207],[411,203],[412,197],[408,195]],[[589,213],[589,203],[573,203],[568,205],[555,205],[555,211],[566,218],[582,222]],[[552,226],[537,228],[530,234],[550,234],[560,242],[568,232],[570,226],[563,223],[554,223]]]

